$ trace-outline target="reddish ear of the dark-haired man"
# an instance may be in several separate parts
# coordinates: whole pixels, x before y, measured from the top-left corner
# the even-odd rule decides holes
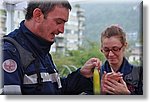
[[[44,19],[44,15],[43,15],[41,9],[39,9],[39,8],[34,9],[33,19],[38,23],[41,22],[42,19]]]

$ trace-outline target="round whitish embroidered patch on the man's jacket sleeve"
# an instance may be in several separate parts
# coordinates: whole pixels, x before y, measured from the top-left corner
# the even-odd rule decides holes
[[[12,59],[8,59],[3,62],[2,67],[6,72],[12,73],[17,69],[17,63]]]

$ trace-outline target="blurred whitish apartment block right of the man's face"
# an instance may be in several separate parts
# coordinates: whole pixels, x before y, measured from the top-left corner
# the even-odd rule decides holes
[[[78,50],[83,44],[83,32],[85,30],[84,9],[75,5],[69,14],[69,20],[65,24],[64,34],[56,36],[56,42],[52,45],[51,52],[65,54],[67,50]]]

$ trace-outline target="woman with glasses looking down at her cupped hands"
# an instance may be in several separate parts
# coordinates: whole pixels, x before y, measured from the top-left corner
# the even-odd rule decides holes
[[[143,94],[143,69],[124,57],[126,34],[117,25],[101,33],[101,51],[106,57],[101,67],[102,94]]]

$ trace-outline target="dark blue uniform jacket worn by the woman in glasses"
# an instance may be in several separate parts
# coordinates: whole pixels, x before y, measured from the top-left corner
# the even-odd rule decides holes
[[[111,72],[108,61],[106,61],[101,68],[101,76],[104,71],[107,73]],[[143,94],[143,67],[131,65],[126,58],[124,58],[118,72],[123,74],[123,79],[126,82],[131,94]]]

